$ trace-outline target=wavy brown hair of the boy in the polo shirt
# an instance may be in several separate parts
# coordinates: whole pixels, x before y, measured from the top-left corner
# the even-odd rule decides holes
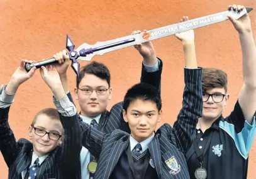
[[[203,92],[214,88],[224,88],[228,91],[228,76],[223,70],[216,68],[203,68],[202,73]]]

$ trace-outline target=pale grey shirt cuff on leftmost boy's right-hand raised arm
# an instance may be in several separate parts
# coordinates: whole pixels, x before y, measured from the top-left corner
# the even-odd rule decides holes
[[[70,102],[69,97],[65,95],[62,99],[56,100],[55,97],[53,97],[53,102],[56,106],[56,109],[62,116],[69,117],[69,116],[75,116],[77,110],[72,102]]]

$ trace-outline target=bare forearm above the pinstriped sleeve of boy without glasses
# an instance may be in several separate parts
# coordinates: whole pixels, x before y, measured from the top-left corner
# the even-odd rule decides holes
[[[182,42],[186,68],[198,68],[194,41]]]

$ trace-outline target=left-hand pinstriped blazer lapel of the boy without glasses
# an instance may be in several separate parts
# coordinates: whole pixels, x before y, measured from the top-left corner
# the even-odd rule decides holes
[[[129,144],[129,138],[127,141],[116,141],[116,143],[113,144],[111,148],[111,152],[109,153],[109,156],[108,156],[107,163],[106,163],[104,178],[106,179],[109,178],[112,171],[114,170],[114,167],[118,163],[118,160],[120,159],[121,155],[123,154],[125,149],[128,147],[128,144]]]

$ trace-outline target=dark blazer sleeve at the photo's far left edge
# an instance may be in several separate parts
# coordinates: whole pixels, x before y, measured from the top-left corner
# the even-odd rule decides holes
[[[16,160],[19,151],[19,145],[8,122],[9,108],[0,108],[0,149],[8,168]]]

